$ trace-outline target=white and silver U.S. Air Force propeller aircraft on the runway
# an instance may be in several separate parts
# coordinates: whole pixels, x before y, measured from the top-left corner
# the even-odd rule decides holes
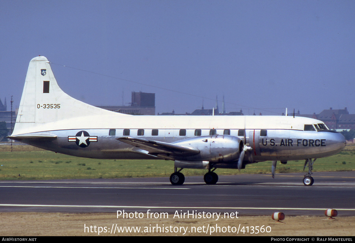
[[[72,156],[100,159],[174,161],[173,185],[185,181],[184,168],[206,169],[215,184],[217,168],[305,159],[305,185],[312,185],[313,163],[345,147],[342,134],[320,120],[292,116],[126,115],[78,101],[60,89],[49,61],[29,63],[10,139]]]

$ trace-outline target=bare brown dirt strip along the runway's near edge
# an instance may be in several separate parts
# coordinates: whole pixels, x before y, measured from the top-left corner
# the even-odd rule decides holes
[[[325,216],[286,216],[284,223],[279,224],[275,224],[271,216],[239,216],[216,221],[173,219],[173,215],[169,215],[168,219],[152,220],[117,219],[115,213],[0,213],[0,219],[0,235],[7,236],[355,236],[354,216],[337,217],[336,221],[325,220]],[[118,233],[116,226],[140,227],[140,232]],[[115,233],[110,233],[112,227],[116,228]],[[207,227],[214,232],[206,234]],[[238,228],[239,233],[232,232]],[[264,232],[256,233],[256,229]]]

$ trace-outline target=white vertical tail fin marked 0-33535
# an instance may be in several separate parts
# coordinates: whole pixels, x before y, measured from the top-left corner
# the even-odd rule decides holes
[[[38,56],[29,62],[13,135],[44,123],[109,113],[112,112],[78,101],[62,91],[47,58]]]

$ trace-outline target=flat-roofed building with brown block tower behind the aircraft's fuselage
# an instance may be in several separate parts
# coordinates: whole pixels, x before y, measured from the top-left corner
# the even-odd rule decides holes
[[[98,106],[109,111],[131,115],[155,115],[155,94],[132,92],[130,106]]]

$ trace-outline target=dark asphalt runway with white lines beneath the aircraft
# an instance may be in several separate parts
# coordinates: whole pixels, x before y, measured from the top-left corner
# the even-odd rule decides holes
[[[313,186],[303,185],[304,174],[220,175],[216,185],[186,176],[182,186],[167,177],[0,181],[0,211],[324,215],[337,209],[338,215],[355,216],[355,171],[316,172]]]

